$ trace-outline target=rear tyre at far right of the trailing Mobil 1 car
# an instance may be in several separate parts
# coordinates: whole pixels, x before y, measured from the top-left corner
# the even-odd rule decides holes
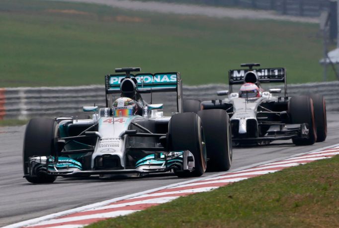
[[[324,142],[327,137],[326,103],[322,95],[311,95],[314,107],[314,118],[317,126],[317,142]]]

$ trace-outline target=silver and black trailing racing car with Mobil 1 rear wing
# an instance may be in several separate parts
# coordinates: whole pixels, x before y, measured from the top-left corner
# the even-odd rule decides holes
[[[327,136],[326,105],[323,96],[311,94],[289,97],[284,68],[253,69],[260,64],[242,64],[247,70],[229,71],[229,90],[222,100],[184,101],[184,111],[223,109],[231,119],[235,145],[267,144],[274,140],[290,140],[295,145],[312,145]],[[281,88],[264,91],[262,83],[284,83]],[[242,84],[239,92],[233,86]],[[273,84],[273,86],[276,86]]]

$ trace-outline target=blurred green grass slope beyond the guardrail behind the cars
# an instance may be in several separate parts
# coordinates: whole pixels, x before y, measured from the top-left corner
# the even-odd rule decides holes
[[[127,66],[226,83],[246,62],[286,67],[289,83],[322,80],[318,25],[39,0],[1,0],[0,21],[0,87],[102,84]]]

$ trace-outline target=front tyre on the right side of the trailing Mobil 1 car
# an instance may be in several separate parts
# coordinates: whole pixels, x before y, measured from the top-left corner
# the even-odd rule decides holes
[[[294,138],[295,145],[313,145],[317,141],[317,129],[314,118],[313,101],[309,96],[292,97],[288,102],[288,112],[292,124],[308,124],[308,138]]]

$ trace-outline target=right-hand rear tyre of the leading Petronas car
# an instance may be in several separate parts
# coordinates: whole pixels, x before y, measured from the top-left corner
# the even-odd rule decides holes
[[[232,163],[230,118],[225,110],[209,109],[198,112],[205,134],[207,171],[227,171]]]

